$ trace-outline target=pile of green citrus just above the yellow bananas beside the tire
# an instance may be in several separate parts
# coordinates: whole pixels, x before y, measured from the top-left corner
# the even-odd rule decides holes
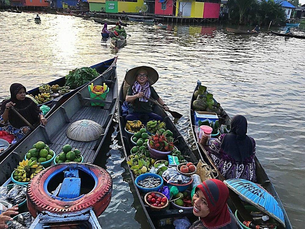
[[[48,145],[39,141],[33,145],[33,148],[27,152],[26,158],[28,160],[37,162],[46,162],[52,159],[54,153],[49,149]]]

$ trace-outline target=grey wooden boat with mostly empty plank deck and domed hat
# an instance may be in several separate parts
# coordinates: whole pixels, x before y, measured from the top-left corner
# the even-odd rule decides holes
[[[88,85],[91,83],[94,85],[106,83],[109,87],[106,100],[90,98]],[[73,148],[78,148],[81,151],[84,163],[92,164],[99,153],[104,153],[102,144],[109,131],[117,107],[117,95],[117,71],[114,65],[66,100],[47,118],[48,123],[45,126],[39,125],[38,128],[22,140],[13,152],[0,162],[0,184],[10,182],[10,176],[14,168],[23,160],[24,155],[32,148],[33,144],[38,141],[48,144],[56,155],[61,152],[63,145],[70,144]],[[98,103],[101,101],[105,104],[104,107],[91,106],[92,102]],[[104,133],[100,135],[99,139],[90,142],[80,142],[71,140],[66,136],[68,126],[73,122],[83,119],[92,120],[102,126]]]

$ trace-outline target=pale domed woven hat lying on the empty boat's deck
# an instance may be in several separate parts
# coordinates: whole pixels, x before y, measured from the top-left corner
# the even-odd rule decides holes
[[[97,140],[103,133],[104,130],[101,125],[87,119],[73,122],[66,130],[68,138],[81,142]]]

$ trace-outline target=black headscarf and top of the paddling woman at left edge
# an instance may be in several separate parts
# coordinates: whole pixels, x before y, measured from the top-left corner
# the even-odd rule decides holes
[[[2,102],[0,115],[4,113],[6,104],[9,102],[13,102],[14,104],[16,104],[14,106],[15,110],[18,111],[18,113],[22,115],[30,124],[35,125],[39,122],[38,115],[41,110],[39,109],[37,104],[35,104],[34,101],[30,98],[25,97],[25,99],[22,101],[17,100],[16,95],[22,88],[24,88],[24,90],[26,91],[26,88],[20,83],[13,83],[10,86],[9,91],[11,93],[11,98]],[[24,123],[19,118],[19,116],[16,115],[16,113],[12,110],[9,110],[9,123],[17,129],[26,126],[26,123]]]

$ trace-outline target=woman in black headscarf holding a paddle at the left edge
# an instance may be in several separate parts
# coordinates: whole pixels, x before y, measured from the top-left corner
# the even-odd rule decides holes
[[[47,120],[43,117],[42,111],[37,104],[25,96],[26,88],[23,85],[13,83],[9,91],[11,98],[4,100],[0,108],[0,124],[3,126],[0,127],[0,131],[4,130],[13,134],[16,140],[20,140],[30,131],[30,127],[26,126],[26,123],[11,110],[12,107],[32,125],[36,125],[39,122],[45,125]]]

